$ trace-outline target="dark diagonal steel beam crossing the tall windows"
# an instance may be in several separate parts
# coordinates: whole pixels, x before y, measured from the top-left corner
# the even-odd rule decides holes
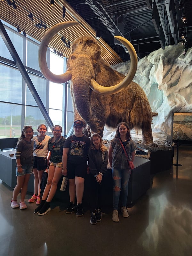
[[[27,71],[25,70],[25,67],[24,67],[18,53],[16,52],[15,47],[13,46],[12,41],[11,41],[10,37],[8,36],[1,20],[0,20],[0,35],[2,36],[3,41],[4,41],[5,45],[7,46],[13,60],[15,61],[16,66],[18,67],[18,69],[19,69],[23,79],[25,80],[31,94],[33,95],[33,98],[35,99],[35,101],[37,103],[37,106],[39,107],[42,115],[44,116],[45,121],[47,122],[49,127],[52,128],[52,126],[53,126],[52,120],[51,120],[50,116],[48,115],[47,110],[45,109],[45,107],[43,105],[43,102],[40,99],[40,97],[39,97],[39,95],[38,95],[38,93],[35,89],[35,86],[33,85]]]

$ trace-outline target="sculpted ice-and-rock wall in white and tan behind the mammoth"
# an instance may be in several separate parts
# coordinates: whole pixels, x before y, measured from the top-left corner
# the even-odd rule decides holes
[[[126,75],[129,61],[112,68]],[[152,120],[153,136],[172,141],[174,113],[192,112],[192,48],[186,55],[181,43],[151,52],[138,61],[133,81],[145,91],[152,111],[159,114]],[[188,133],[192,135],[191,125]]]

